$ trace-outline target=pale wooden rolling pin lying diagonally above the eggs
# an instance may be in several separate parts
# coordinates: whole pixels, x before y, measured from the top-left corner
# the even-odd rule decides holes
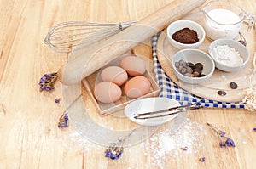
[[[65,85],[81,82],[111,60],[134,48],[137,43],[145,41],[158,31],[163,30],[172,21],[181,19],[195,8],[198,8],[206,0],[174,0],[166,7],[160,8],[153,14],[149,14],[143,20],[131,25],[124,31],[109,37],[107,40],[96,42],[88,48],[73,51],[72,59],[58,70],[58,77]]]

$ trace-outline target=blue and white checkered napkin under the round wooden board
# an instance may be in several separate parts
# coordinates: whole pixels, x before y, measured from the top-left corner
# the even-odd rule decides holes
[[[244,104],[239,103],[224,103],[213,101],[209,99],[202,99],[194,94],[188,93],[183,88],[178,87],[172,80],[166,76],[164,70],[162,70],[159,60],[157,59],[156,45],[160,32],[152,37],[152,54],[154,58],[154,73],[156,80],[161,88],[160,97],[166,97],[170,99],[176,99],[180,104],[192,104],[199,102],[197,105],[204,107],[218,107],[218,108],[244,108]]]

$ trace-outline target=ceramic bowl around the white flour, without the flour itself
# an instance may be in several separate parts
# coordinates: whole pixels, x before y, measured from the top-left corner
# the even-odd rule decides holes
[[[230,48],[234,48],[241,55],[241,58],[243,59],[243,63],[241,65],[226,65],[220,62],[218,59],[216,59],[214,56],[211,55],[212,48],[218,47],[219,45],[228,45]],[[236,42],[235,40],[231,40],[231,39],[218,39],[213,41],[208,48],[208,52],[212,56],[212,59],[215,62],[216,68],[218,68],[218,70],[223,70],[227,72],[234,72],[234,71],[241,70],[247,65],[249,60],[249,53],[247,48],[243,46],[240,42]]]

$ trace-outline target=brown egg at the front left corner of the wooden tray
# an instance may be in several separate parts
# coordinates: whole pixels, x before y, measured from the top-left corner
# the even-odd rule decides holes
[[[119,100],[122,96],[122,91],[113,82],[99,82],[94,88],[94,96],[98,101],[109,104]]]

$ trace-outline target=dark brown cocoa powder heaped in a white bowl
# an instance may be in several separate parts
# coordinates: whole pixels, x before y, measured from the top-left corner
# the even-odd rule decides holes
[[[197,32],[190,30],[189,28],[183,28],[182,30],[176,31],[172,35],[172,39],[185,44],[192,44],[199,41]]]

